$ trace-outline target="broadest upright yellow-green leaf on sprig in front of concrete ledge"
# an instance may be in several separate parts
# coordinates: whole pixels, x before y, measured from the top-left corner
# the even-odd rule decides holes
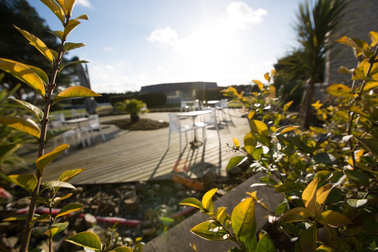
[[[255,202],[253,198],[246,198],[232,211],[231,225],[236,237],[246,235],[253,226],[255,215]]]

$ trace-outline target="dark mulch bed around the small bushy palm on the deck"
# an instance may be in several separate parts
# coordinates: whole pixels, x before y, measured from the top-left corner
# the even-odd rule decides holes
[[[151,119],[139,118],[139,121],[132,122],[130,119],[106,121],[102,124],[114,124],[120,129],[127,129],[130,131],[149,131],[152,129],[162,129],[169,126],[169,123],[163,121],[154,121]]]

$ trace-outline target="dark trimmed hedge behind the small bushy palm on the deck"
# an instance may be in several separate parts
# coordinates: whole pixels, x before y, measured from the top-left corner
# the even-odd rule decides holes
[[[114,95],[110,96],[109,100],[112,106],[118,101],[124,101],[127,99],[136,98],[146,103],[147,107],[154,107],[164,105],[167,101],[167,95],[165,93],[142,93],[142,94],[128,94],[128,95]]]

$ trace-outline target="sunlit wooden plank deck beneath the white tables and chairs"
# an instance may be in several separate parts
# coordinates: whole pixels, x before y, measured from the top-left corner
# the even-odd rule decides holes
[[[237,137],[242,142],[244,135],[249,131],[248,120],[240,117],[239,110],[233,109],[230,113],[234,117],[232,121],[227,117],[228,122],[223,121],[220,124],[220,138],[215,128],[209,126],[206,143],[198,149],[193,150],[189,144],[186,145],[183,133],[181,153],[176,132],[171,133],[171,146],[167,149],[168,128],[153,131],[125,131],[114,125],[101,124],[107,138],[106,142],[102,142],[101,137],[96,135],[92,146],[81,149],[70,148],[67,155],[61,154],[45,169],[42,180],[56,180],[64,171],[77,168],[87,168],[87,170],[71,180],[76,185],[170,179],[174,173],[196,178],[201,177],[208,170],[216,170],[218,174],[225,175],[229,159],[237,155],[232,151],[226,152],[230,149],[226,147],[226,143],[231,144],[232,137]],[[100,121],[126,117],[128,116],[101,117]],[[150,113],[142,117],[169,121],[167,113]],[[182,124],[191,123],[191,118],[182,120]],[[199,140],[202,141],[202,137],[200,129]],[[188,132],[189,142],[191,139],[191,133]],[[52,148],[53,146],[49,146],[47,151]],[[33,158],[31,155],[27,157]]]

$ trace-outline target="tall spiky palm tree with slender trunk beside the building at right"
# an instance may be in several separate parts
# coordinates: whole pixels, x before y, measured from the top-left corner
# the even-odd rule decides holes
[[[299,5],[294,28],[301,54],[297,67],[306,73],[308,89],[305,103],[304,127],[311,123],[311,103],[313,103],[314,84],[322,82],[326,54],[335,39],[335,31],[345,16],[346,0],[306,0]]]

